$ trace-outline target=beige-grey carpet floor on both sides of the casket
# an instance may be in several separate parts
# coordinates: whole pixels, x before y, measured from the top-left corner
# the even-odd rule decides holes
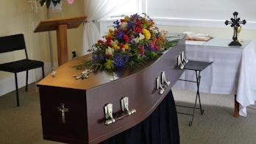
[[[0,143],[4,144],[54,144],[43,140],[40,119],[39,93],[35,83],[29,91],[21,87],[20,107],[16,107],[15,91],[0,97]],[[193,106],[196,93],[173,90],[176,104]],[[254,144],[256,143],[256,107],[247,108],[248,116],[234,118],[234,96],[201,93],[203,115],[196,109],[192,126],[188,126],[191,115],[178,115],[181,144]],[[178,112],[192,112],[177,107]]]

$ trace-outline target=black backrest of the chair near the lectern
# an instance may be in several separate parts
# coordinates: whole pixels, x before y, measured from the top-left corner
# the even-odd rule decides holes
[[[26,43],[23,34],[0,37],[0,53],[22,49],[25,50],[26,59],[28,59],[26,53]]]

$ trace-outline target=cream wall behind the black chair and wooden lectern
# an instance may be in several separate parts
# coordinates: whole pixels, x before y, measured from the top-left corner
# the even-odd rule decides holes
[[[51,18],[61,18],[60,12],[51,12]],[[84,1],[74,0],[72,5],[63,1],[63,17],[84,15]],[[51,72],[48,32],[34,33],[40,20],[46,19],[46,7],[32,10],[31,0],[1,0],[0,4],[0,37],[22,33],[25,36],[29,58],[45,62],[45,73]],[[83,24],[78,29],[68,29],[68,57],[71,60],[71,51],[81,54]],[[54,65],[57,66],[56,32],[52,33]],[[0,63],[18,60],[23,53],[0,54]],[[25,85],[25,73],[18,73],[18,86]],[[36,77],[36,79],[34,79]],[[29,71],[29,83],[42,78],[41,70]],[[0,71],[0,96],[15,90],[13,73]],[[15,101],[14,101],[15,104]]]

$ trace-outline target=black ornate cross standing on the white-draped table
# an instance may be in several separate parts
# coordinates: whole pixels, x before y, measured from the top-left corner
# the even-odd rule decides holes
[[[229,46],[242,46],[240,43],[240,40],[238,40],[238,28],[240,27],[240,24],[246,24],[246,21],[240,21],[240,18],[238,18],[238,12],[233,13],[234,18],[230,18],[230,21],[225,21],[225,24],[231,24],[231,27],[234,27],[234,35],[232,37],[232,42],[229,44]]]

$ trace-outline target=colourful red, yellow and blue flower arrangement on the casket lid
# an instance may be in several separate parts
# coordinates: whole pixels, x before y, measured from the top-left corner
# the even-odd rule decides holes
[[[113,24],[114,29],[109,29],[104,40],[98,40],[88,50],[92,60],[77,65],[77,69],[139,68],[177,43],[167,40],[166,31],[158,29],[146,15],[125,16]]]

